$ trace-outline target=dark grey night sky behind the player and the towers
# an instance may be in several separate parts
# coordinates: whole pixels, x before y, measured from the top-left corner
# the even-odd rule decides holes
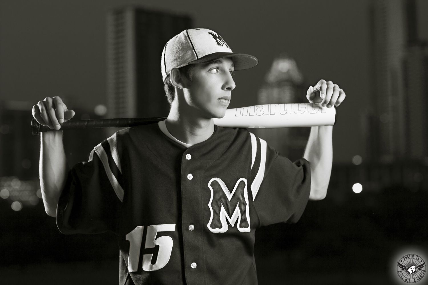
[[[351,162],[357,154],[364,159],[360,114],[371,104],[372,96],[370,1],[259,2],[2,0],[0,100],[33,105],[58,95],[73,98],[70,108],[106,104],[106,12],[113,6],[138,4],[190,15],[194,27],[213,29],[234,52],[259,59],[256,68],[236,73],[231,108],[256,104],[265,73],[280,53],[297,61],[308,87],[319,79],[338,84],[347,98],[338,108],[333,131],[334,161]],[[428,19],[422,17],[428,1],[417,4],[419,38],[428,39]],[[160,53],[153,56],[160,59]],[[160,69],[153,72],[161,80]],[[306,102],[306,94],[301,94],[299,102]]]

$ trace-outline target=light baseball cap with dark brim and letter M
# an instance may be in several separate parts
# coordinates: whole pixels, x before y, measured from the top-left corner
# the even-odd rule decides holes
[[[235,70],[252,68],[259,62],[249,54],[233,53],[226,41],[210,29],[186,29],[171,38],[163,47],[160,61],[162,80],[165,82],[172,68],[212,62],[225,57],[232,59]]]

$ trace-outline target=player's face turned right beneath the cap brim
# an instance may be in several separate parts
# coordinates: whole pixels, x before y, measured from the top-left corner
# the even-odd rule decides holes
[[[232,59],[196,64],[191,82],[183,89],[184,99],[201,118],[223,118],[229,106],[235,82]]]

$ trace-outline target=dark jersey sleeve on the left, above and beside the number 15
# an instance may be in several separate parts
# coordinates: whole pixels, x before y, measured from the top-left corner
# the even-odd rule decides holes
[[[102,144],[97,147],[103,150]],[[122,202],[116,176],[120,173],[111,171],[108,156],[97,153],[97,147],[88,162],[68,172],[56,209],[56,224],[64,234],[115,232],[118,227]]]

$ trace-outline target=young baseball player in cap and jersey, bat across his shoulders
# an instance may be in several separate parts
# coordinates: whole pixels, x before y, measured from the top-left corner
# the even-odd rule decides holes
[[[119,284],[257,284],[256,228],[295,223],[307,200],[323,199],[332,164],[332,126],[312,127],[291,162],[247,129],[215,126],[229,105],[232,73],[257,64],[217,33],[188,29],[162,52],[168,118],[116,132],[88,162],[67,169],[59,97],[33,107],[42,133],[40,183],[61,232],[113,231]],[[345,93],[320,80],[309,102],[336,105]]]

